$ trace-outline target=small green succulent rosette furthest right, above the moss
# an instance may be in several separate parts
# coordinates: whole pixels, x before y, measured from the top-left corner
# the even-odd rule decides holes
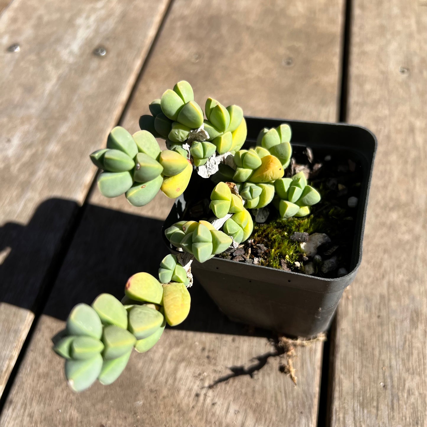
[[[292,178],[282,178],[275,182],[277,197],[274,199],[282,218],[306,216],[310,213],[309,206],[320,201],[318,191],[307,185],[304,173],[300,172]]]

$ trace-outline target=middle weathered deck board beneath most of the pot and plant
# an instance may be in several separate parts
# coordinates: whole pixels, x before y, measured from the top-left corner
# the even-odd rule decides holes
[[[196,21],[200,25],[193,25]],[[213,95],[226,105],[240,104],[246,114],[335,120],[341,28],[338,0],[298,6],[203,0],[189,6],[177,0],[123,124],[137,130],[148,103],[179,79],[193,84],[201,104]],[[267,358],[273,350],[266,336],[248,336],[225,319],[197,284],[189,319],[167,329],[147,354],[134,354],[114,385],[71,393],[62,360],[47,345],[63,326],[55,318],[64,319],[73,304],[91,302],[99,292],[121,295],[126,278],[138,270],[155,274],[166,253],[159,219],[172,201],[159,195],[136,209],[95,190],[90,203],[0,425],[316,425],[322,343],[297,349],[295,388],[279,372],[278,357]],[[252,366],[258,356],[267,363],[254,378],[240,376],[205,388],[229,374],[231,366]]]

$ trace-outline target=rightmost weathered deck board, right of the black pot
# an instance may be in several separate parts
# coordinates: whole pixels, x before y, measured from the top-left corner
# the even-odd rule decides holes
[[[332,426],[427,425],[427,7],[353,0],[348,121],[378,151],[363,263],[339,305]]]

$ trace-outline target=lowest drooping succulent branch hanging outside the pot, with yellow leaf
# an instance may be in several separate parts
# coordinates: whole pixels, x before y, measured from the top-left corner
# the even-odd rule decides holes
[[[190,311],[187,273],[173,255],[164,258],[161,269],[173,264],[174,281],[162,284],[148,273],[136,273],[126,283],[122,302],[103,293],[92,306],[77,304],[71,310],[54,350],[66,359],[65,376],[74,391],[87,389],[97,379],[103,385],[113,383],[132,348],[148,351],[166,323],[175,326],[184,321]]]

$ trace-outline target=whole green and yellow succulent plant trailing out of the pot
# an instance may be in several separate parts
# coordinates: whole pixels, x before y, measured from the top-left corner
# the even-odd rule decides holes
[[[144,206],[159,190],[170,198],[180,196],[196,169],[205,178],[212,175],[216,183],[211,217],[179,221],[165,230],[176,255],[164,257],[158,279],[138,272],[128,279],[121,301],[101,294],[91,306],[73,308],[54,350],[64,357],[65,376],[75,391],[96,380],[111,384],[133,348],[148,351],[166,324],[186,319],[192,260],[203,263],[249,239],[254,227],[249,209],[273,204],[282,218],[289,218],[307,215],[309,206],[320,200],[304,174],[283,178],[292,156],[287,124],[262,129],[257,145],[242,149],[247,134],[242,108],[208,98],[205,118],[186,81],[153,100],[149,111],[151,115],[140,117],[140,131],[131,135],[117,126],[106,148],[91,154],[102,170],[99,191],[106,197],[124,194],[132,205]],[[167,149],[162,150],[156,138],[165,139]]]

